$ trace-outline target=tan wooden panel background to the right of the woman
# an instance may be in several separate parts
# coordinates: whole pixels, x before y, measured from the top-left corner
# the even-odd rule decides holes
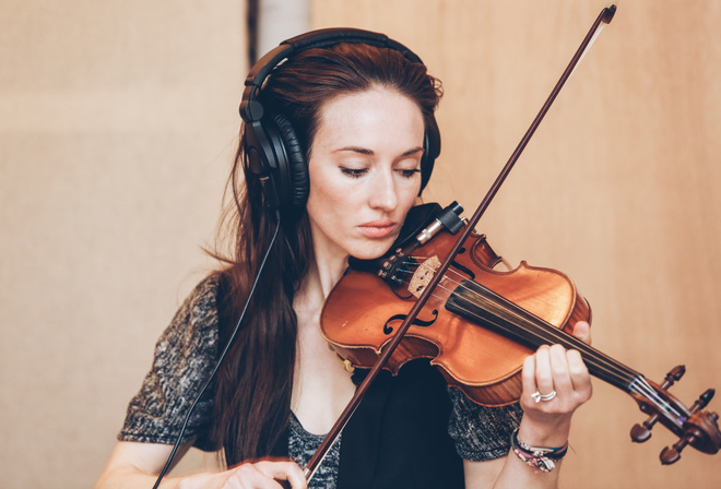
[[[315,0],[314,25],[380,31],[444,81],[444,148],[426,200],[469,212],[506,163],[607,3]],[[721,3],[622,2],[562,92],[481,225],[512,263],[569,274],[594,310],[594,345],[687,404],[721,387]],[[711,402],[721,410],[721,399]],[[721,487],[720,456],[657,428],[626,394],[594,383],[562,487]]]

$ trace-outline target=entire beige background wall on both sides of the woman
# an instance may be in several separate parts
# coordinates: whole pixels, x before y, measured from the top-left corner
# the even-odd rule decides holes
[[[388,32],[444,80],[427,199],[471,210],[603,4],[315,0],[314,15]],[[209,266],[243,2],[2,8],[0,486],[90,487],[155,338]],[[673,391],[687,404],[721,387],[719,21],[713,0],[623,2],[482,225],[509,260],[576,279],[595,346],[654,380],[685,362]],[[630,444],[641,419],[595,382],[564,487],[721,486],[718,455],[661,467],[661,428]]]

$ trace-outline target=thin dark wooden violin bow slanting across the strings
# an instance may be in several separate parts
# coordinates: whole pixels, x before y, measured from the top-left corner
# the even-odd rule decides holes
[[[510,171],[513,169],[513,166],[516,165],[516,162],[518,158],[521,156],[521,153],[525,148],[527,144],[533,136],[533,133],[537,129],[537,127],[541,124],[541,121],[545,117],[546,112],[553,105],[554,100],[560,93],[562,88],[570,77],[570,75],[574,73],[574,70],[576,69],[576,65],[578,62],[583,58],[586,55],[586,51],[591,47],[593,41],[595,40],[595,37],[598,34],[601,32],[601,27],[605,24],[611,23],[613,20],[614,14],[616,13],[616,5],[611,5],[607,8],[604,8],[596,20],[593,22],[593,25],[591,26],[591,29],[589,33],[586,35],[583,38],[583,41],[579,46],[579,48],[576,50],[576,53],[571,58],[570,62],[568,63],[568,67],[564,71],[564,73],[560,75],[560,79],[558,82],[556,82],[556,85],[554,86],[553,91],[551,92],[551,95],[546,99],[546,102],[543,104],[543,107],[541,107],[541,110],[539,111],[539,115],[533,119],[533,122],[531,123],[531,127],[528,129],[521,141],[519,142],[518,146],[511,154],[510,158],[504,166],[504,168],[500,170],[500,174],[498,177],[496,177],[496,180],[494,183],[490,186],[490,189],[488,189],[488,192],[486,193],[485,198],[481,201],[481,204],[476,208],[475,213],[473,216],[469,219],[468,225],[464,226],[463,230],[461,231],[459,238],[457,239],[456,243],[451,248],[450,252],[444,260],[444,262],[440,264],[440,266],[436,270],[433,278],[429,281],[425,289],[423,290],[423,294],[421,294],[421,297],[418,297],[417,301],[413,305],[413,308],[406,315],[406,318],[403,320],[401,325],[398,327],[395,334],[393,335],[393,338],[390,341],[390,343],[383,348],[381,351],[380,356],[378,357],[378,360],[376,360],[376,363],[374,365],[373,369],[369,370],[368,374],[366,375],[365,380],[363,383],[356,389],[355,395],[353,398],[350,401],[343,413],[341,413],[341,416],[338,418],[333,427],[330,429],[328,434],[326,434],[326,438],[323,441],[320,443],[320,446],[318,446],[318,450],[316,453],[310,457],[308,461],[308,464],[304,468],[304,475],[306,476],[306,480],[309,481],[316,470],[318,469],[318,466],[322,462],[322,460],[326,457],[328,454],[328,451],[333,446],[333,443],[338,440],[338,437],[341,434],[343,431],[343,428],[345,425],[347,425],[348,420],[351,419],[351,416],[353,416],[353,413],[355,413],[356,408],[361,404],[361,401],[363,401],[363,397],[365,396],[366,392],[368,389],[370,389],[370,384],[374,382],[374,380],[378,377],[382,368],[388,363],[388,360],[390,357],[393,355],[393,351],[395,351],[395,348],[400,345],[401,341],[403,339],[403,336],[405,333],[409,331],[411,325],[413,324],[413,321],[416,319],[418,313],[421,312],[421,309],[426,305],[428,299],[430,298],[434,289],[442,278],[442,276],[446,274],[448,269],[451,265],[451,262],[456,259],[456,255],[459,253],[463,242],[465,239],[470,236],[470,234],[473,231],[475,228],[475,225],[478,223],[483,214],[485,213],[486,208],[488,205],[490,205],[490,202],[496,196],[496,193],[498,193],[498,190],[503,186],[504,181],[510,174]]]

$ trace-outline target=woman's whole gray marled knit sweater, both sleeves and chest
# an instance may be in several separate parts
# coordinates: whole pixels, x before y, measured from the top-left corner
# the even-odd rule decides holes
[[[184,419],[200,393],[218,355],[218,281],[202,281],[185,300],[155,346],[152,368],[139,393],[130,401],[125,425],[118,434],[122,441],[174,444]],[[458,454],[470,461],[505,456],[510,433],[521,419],[516,405],[487,408],[449,389],[452,410],[448,432]],[[212,450],[208,429],[212,416],[213,392],[209,390],[193,410],[182,441],[194,440],[198,448]],[[288,454],[304,466],[316,451],[322,436],[306,431],[295,416],[288,428]],[[342,438],[342,437],[341,437]],[[334,488],[340,463],[341,441],[314,476],[311,488]]]

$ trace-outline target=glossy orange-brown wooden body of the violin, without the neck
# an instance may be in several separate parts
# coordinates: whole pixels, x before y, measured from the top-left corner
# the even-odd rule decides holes
[[[440,232],[412,250],[413,257],[418,257],[414,262],[442,259],[453,241],[451,234]],[[494,270],[500,262],[485,236],[472,234],[456,257],[452,272],[441,279],[386,368],[397,373],[412,359],[429,358],[449,385],[478,404],[503,406],[518,401],[520,371],[535,346],[520,344],[449,311],[446,306],[451,291],[462,281],[474,281],[566,331],[577,321],[590,322],[591,308],[565,274],[525,262],[510,272]],[[412,284],[413,279],[409,281],[407,287]],[[348,269],[326,301],[322,335],[354,367],[373,367],[416,299],[416,291],[407,287],[393,290],[377,274]]]

